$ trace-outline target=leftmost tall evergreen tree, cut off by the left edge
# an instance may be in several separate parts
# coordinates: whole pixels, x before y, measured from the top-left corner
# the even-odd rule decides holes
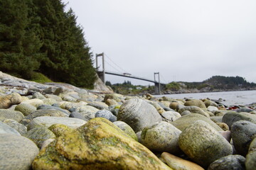
[[[0,0],[0,69],[17,77],[31,78],[38,69],[41,41],[29,17],[31,1]]]

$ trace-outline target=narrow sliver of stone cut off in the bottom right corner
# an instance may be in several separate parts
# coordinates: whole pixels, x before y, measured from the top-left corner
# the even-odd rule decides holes
[[[252,140],[252,142],[250,144],[249,152],[246,155],[245,167],[246,167],[246,170],[255,170],[255,167],[256,167],[256,137],[254,140]]]

